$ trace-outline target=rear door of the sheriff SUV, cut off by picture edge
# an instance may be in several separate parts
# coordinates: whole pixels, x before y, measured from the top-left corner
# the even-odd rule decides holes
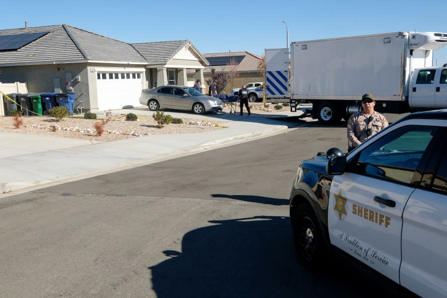
[[[421,297],[447,296],[447,129],[438,139],[402,217],[400,283]]]

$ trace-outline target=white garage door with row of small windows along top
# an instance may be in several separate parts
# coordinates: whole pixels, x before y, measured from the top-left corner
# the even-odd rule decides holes
[[[116,110],[141,106],[143,71],[97,71],[98,110]]]

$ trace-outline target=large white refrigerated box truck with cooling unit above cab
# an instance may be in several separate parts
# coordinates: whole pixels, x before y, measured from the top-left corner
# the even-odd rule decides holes
[[[433,51],[446,45],[447,34],[438,32],[393,32],[292,42],[291,109],[307,101],[312,103],[312,109],[304,116],[336,124],[360,110],[360,99],[365,93],[374,95],[374,109],[378,112],[447,108],[447,64],[433,67]],[[284,50],[287,49],[266,50],[266,73],[285,62],[269,65],[268,53]]]

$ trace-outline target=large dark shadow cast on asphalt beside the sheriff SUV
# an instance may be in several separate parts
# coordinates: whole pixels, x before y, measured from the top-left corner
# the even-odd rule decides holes
[[[302,268],[288,217],[209,223],[183,236],[181,252],[164,250],[169,259],[148,267],[158,298],[377,296],[342,269],[315,275]]]

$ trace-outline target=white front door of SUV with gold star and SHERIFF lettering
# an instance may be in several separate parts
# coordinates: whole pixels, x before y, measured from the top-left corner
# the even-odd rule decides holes
[[[432,139],[430,127],[414,122],[390,127],[354,149],[347,171],[334,176],[329,197],[331,243],[397,283],[402,213]]]

